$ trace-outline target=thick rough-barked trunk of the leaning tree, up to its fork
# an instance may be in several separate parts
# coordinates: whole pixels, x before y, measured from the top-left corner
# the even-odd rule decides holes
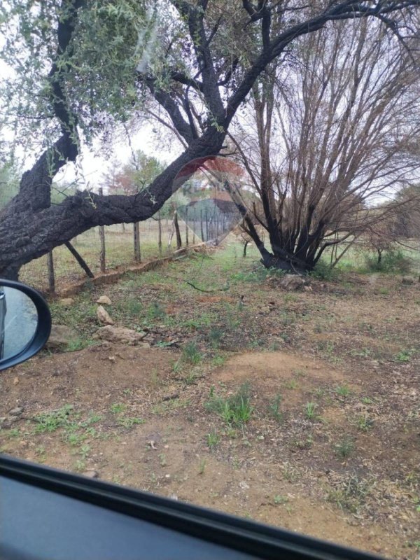
[[[3,209],[0,216],[0,276],[17,279],[22,265],[97,225],[147,220],[162,208],[206,158],[221,150],[224,138],[225,132],[207,130],[148,189],[136,195],[101,196],[82,191],[67,197],[61,204],[46,208],[42,207],[48,201],[43,200],[39,204],[41,208],[38,208],[36,204],[27,204],[26,190],[21,187],[20,194]],[[179,178],[177,176],[182,169],[183,176]],[[34,181],[40,181],[38,171],[36,164],[23,176],[22,184],[26,185],[32,174],[36,174]]]

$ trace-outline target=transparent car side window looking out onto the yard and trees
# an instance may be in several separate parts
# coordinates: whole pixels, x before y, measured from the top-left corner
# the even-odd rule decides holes
[[[419,10],[1,8],[2,453],[417,560]]]

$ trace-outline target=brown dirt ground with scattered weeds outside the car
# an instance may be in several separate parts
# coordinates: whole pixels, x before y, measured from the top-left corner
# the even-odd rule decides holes
[[[53,304],[87,347],[1,374],[0,451],[417,559],[419,286],[288,293],[234,249]],[[99,295],[150,348],[91,345]],[[228,421],[238,395],[249,419]]]

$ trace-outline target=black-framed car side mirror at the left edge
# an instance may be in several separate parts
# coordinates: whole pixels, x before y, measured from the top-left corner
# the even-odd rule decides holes
[[[0,279],[0,371],[35,356],[51,332],[47,302],[34,288]]]

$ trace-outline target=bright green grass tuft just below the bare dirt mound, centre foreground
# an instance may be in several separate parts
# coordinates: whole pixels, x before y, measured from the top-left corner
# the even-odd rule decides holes
[[[251,405],[251,386],[248,383],[242,384],[237,393],[223,398],[214,393],[214,388],[210,391],[210,398],[205,407],[211,412],[216,412],[218,416],[227,424],[232,426],[243,426],[251,419],[253,406]]]

